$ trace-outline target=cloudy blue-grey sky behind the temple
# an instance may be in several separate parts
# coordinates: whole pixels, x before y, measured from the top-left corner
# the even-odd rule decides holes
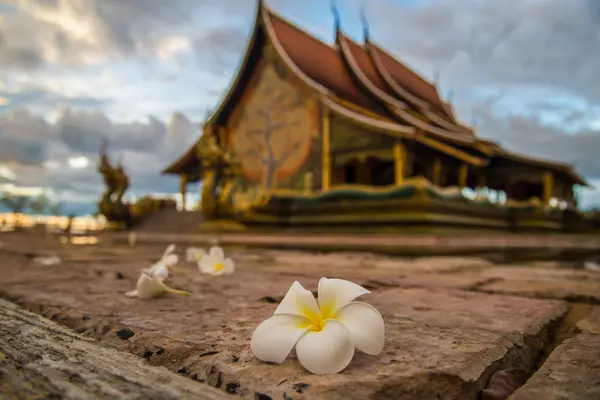
[[[328,42],[326,0],[270,6]],[[372,36],[439,86],[478,134],[572,163],[600,205],[600,1],[338,0],[343,29]],[[0,188],[52,188],[93,204],[104,138],[131,192],[198,135],[243,55],[254,0],[0,0]]]

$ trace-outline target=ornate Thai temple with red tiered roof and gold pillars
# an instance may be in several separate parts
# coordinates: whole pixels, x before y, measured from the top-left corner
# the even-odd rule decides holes
[[[336,23],[326,44],[262,0],[226,96],[163,173],[184,194],[203,182],[207,223],[293,230],[568,231],[574,185],[587,185],[569,165],[480,139],[368,32],[357,43]]]

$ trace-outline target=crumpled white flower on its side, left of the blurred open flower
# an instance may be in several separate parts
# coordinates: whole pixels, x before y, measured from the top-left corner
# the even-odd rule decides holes
[[[175,245],[167,247],[167,250],[165,250],[165,253],[158,262],[142,271],[137,281],[136,289],[127,292],[125,295],[140,299],[150,299],[163,293],[189,296],[188,292],[173,289],[164,283],[165,279],[169,276],[169,267],[172,267],[178,261],[177,254],[173,254],[173,251],[175,251]]]

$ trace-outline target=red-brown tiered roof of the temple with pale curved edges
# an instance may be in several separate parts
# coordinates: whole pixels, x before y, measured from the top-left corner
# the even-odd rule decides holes
[[[457,146],[452,153],[477,166],[487,165],[492,158],[505,158],[560,172],[573,183],[586,184],[569,165],[519,156],[477,138],[471,128],[457,121],[452,106],[441,99],[435,85],[369,37],[364,44],[358,44],[337,26],[335,45],[328,45],[274,13],[263,0],[258,0],[254,29],[238,74],[207,126],[225,125],[267,42],[287,67],[321,96],[323,104],[340,117],[375,131],[418,140],[440,151],[452,148],[449,144]],[[197,155],[191,149],[163,173],[183,173],[197,163]]]

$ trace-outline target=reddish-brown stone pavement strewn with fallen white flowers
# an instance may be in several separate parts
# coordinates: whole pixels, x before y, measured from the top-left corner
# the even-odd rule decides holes
[[[594,331],[600,272],[548,263],[494,265],[465,257],[225,247],[236,262],[234,275],[201,275],[182,257],[169,283],[191,296],[141,301],[124,293],[167,242],[79,246],[23,239],[0,236],[3,298],[245,398],[476,399],[490,389],[492,376],[515,369],[525,378],[537,371],[515,393],[518,399],[559,398],[567,386],[571,398],[579,398],[600,387],[593,361],[594,356],[600,360]],[[179,254],[183,250],[180,246]],[[41,266],[31,253],[58,255],[62,263]],[[273,313],[294,280],[316,291],[322,276],[372,291],[363,300],[386,322],[383,352],[357,352],[346,370],[330,376],[307,373],[293,352],[282,365],[255,359],[249,339],[256,326]],[[577,351],[585,351],[590,361],[577,364]],[[555,379],[550,363],[564,364],[566,371],[554,386],[543,383]],[[578,387],[582,376],[585,385]],[[487,398],[505,398],[523,383],[515,379],[504,397]],[[536,397],[540,387],[546,397]],[[486,396],[492,392],[484,390]]]

